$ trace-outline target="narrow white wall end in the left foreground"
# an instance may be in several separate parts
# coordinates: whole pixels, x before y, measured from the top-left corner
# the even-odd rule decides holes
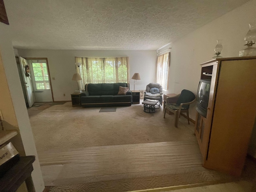
[[[20,148],[23,145],[22,147],[24,147],[26,155],[36,156],[36,161],[33,163],[34,170],[32,172],[32,180],[34,182],[36,192],[42,192],[44,190],[44,181],[42,179],[34,137],[32,134],[28,112],[22,93],[22,87],[20,84],[12,42],[9,36],[9,30],[10,26],[0,23],[0,53],[6,80],[8,83],[8,88],[5,88],[5,90],[1,91],[10,92],[11,102],[9,107],[10,109],[14,108],[14,113],[12,113],[12,116],[17,120],[18,130],[22,139],[22,142],[19,144],[20,146],[17,147]],[[0,102],[0,106],[4,106],[3,103],[5,100],[1,100]],[[3,117],[5,117],[5,114],[10,114],[10,109],[8,110],[8,108],[3,108]],[[8,122],[8,118],[4,118],[4,123],[10,125],[13,124],[13,122]]]

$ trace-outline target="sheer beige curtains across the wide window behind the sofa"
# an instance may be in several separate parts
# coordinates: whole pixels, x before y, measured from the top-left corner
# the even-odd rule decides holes
[[[77,73],[82,77],[83,85],[88,83],[129,83],[129,58],[81,58],[75,57],[75,62],[80,62]],[[82,83],[79,88],[82,88]]]

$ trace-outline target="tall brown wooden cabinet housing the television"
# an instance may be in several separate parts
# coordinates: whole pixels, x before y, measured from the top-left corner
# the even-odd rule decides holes
[[[211,81],[207,116],[196,115],[203,166],[240,176],[256,117],[256,57],[218,58],[201,64]]]

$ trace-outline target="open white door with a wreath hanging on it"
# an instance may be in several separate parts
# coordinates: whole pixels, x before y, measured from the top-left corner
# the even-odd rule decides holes
[[[34,94],[33,94],[33,87],[32,87],[32,81],[30,77],[30,67],[28,66],[28,62],[26,59],[20,57],[20,67],[22,71],[22,77],[24,80],[24,84],[26,87],[26,95],[28,98],[28,106],[32,107],[32,105],[35,102]]]

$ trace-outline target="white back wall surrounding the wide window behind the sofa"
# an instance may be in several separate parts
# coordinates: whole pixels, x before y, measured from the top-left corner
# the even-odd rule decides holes
[[[71,80],[76,73],[75,57],[129,57],[130,78],[135,72],[138,72],[141,78],[135,82],[136,90],[146,89],[148,83],[155,82],[156,51],[18,49],[18,54],[23,58],[48,58],[54,101],[71,100],[70,94],[78,88],[77,82]],[[134,80],[130,79],[131,90],[133,85]]]

